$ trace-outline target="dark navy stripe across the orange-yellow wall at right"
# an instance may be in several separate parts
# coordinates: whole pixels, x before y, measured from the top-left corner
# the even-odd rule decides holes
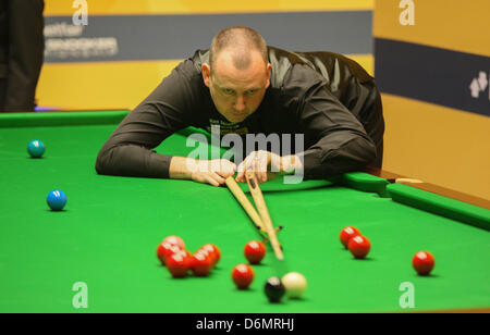
[[[381,91],[490,116],[488,85],[471,97],[490,58],[397,40],[375,39],[375,73]]]

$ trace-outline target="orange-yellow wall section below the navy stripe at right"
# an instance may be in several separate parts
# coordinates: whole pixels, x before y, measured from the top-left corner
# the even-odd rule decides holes
[[[490,117],[382,95],[383,169],[490,199]]]

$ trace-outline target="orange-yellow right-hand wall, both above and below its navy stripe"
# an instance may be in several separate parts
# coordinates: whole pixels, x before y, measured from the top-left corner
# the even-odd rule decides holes
[[[490,57],[490,1],[414,1],[414,26],[399,2],[376,1],[376,38]],[[490,199],[490,117],[391,95],[383,106],[384,170]]]

